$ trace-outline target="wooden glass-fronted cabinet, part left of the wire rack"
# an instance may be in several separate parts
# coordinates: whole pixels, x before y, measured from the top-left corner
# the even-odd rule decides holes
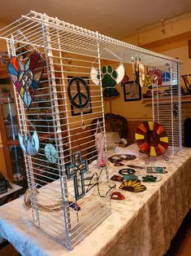
[[[2,67],[1,67],[2,68]],[[24,155],[18,140],[19,125],[15,111],[14,91],[8,74],[0,68],[0,132],[7,166],[12,182],[26,188]],[[4,70],[6,70],[6,65]]]

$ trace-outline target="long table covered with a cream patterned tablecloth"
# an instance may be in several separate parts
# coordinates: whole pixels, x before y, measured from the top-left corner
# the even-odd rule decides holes
[[[162,157],[151,164],[167,167],[157,183],[146,184],[145,192],[121,191],[124,201],[111,201],[112,214],[84,241],[68,251],[54,238],[33,226],[30,210],[23,198],[0,207],[0,237],[6,238],[22,255],[163,255],[176,235],[191,205],[191,148],[183,148],[176,157]],[[129,164],[143,165],[144,157]],[[111,175],[119,167],[109,166]],[[143,173],[138,170],[137,174]]]

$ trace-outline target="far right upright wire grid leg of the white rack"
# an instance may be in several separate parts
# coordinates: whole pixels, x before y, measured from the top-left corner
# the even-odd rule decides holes
[[[153,119],[167,131],[168,152],[175,156],[182,148],[180,64],[171,61],[159,69],[164,76],[163,84],[154,84],[152,91]]]

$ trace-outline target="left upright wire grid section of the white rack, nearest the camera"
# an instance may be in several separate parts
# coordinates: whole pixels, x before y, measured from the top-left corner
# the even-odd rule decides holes
[[[89,164],[98,156],[94,146],[96,129],[91,130],[91,122],[102,117],[100,126],[105,130],[102,86],[94,85],[89,78],[92,63],[100,68],[98,42],[92,42],[93,55],[97,56],[95,60],[94,56],[80,54],[82,50],[76,54],[68,53],[67,44],[72,47],[72,42],[75,42],[75,49],[80,49],[83,42],[72,31],[60,31],[56,26],[46,24],[45,20],[41,23],[23,20],[20,29],[15,29],[7,40],[10,55],[22,57],[26,62],[31,52],[39,51],[46,60],[40,85],[28,110],[15,90],[21,135],[26,130],[33,134],[35,127],[40,139],[37,155],[24,156],[33,220],[72,249],[111,214],[109,195],[106,193],[109,189],[106,167],[98,169],[89,166],[85,173],[85,189],[87,191],[89,183],[91,189],[78,201],[73,179],[67,179],[66,175],[66,166],[72,162],[72,154],[81,152],[82,159],[88,159]],[[81,77],[89,87],[90,101],[85,108],[74,108],[68,99],[68,82],[72,77]],[[83,86],[78,89],[75,86],[71,87],[72,93],[80,90],[85,94]],[[47,144],[56,149],[58,156],[55,163],[45,157]],[[80,184],[79,189],[82,189]],[[78,206],[80,210],[77,210]]]

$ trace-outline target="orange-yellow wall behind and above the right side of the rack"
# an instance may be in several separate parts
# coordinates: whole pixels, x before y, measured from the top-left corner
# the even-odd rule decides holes
[[[158,26],[148,31],[140,32],[132,37],[126,38],[124,41],[134,45],[146,47],[150,51],[156,51],[164,55],[183,60],[182,74],[191,73],[191,59],[189,59],[188,40],[191,39],[191,16],[187,16],[182,20],[172,20],[164,23],[166,33],[161,32],[162,27]],[[189,38],[190,37],[190,38]],[[128,70],[128,76],[131,77],[131,69]],[[191,82],[191,81],[190,81]],[[183,81],[181,81],[183,84]],[[124,93],[121,86],[116,87],[120,92],[118,99],[113,99],[112,113],[122,115],[131,120],[145,120],[152,118],[152,109],[148,101],[140,100],[132,102],[124,102]],[[109,112],[109,103],[105,100],[105,111]]]

